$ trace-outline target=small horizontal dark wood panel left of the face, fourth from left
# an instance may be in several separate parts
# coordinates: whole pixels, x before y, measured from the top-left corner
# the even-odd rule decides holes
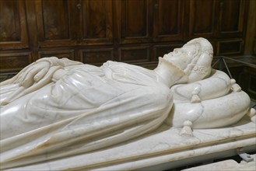
[[[119,48],[119,61],[141,62],[149,61],[149,46]]]

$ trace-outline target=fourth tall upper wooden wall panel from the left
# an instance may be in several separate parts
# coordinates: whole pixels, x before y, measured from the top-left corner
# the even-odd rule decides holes
[[[117,1],[120,44],[148,43],[152,40],[152,1]]]

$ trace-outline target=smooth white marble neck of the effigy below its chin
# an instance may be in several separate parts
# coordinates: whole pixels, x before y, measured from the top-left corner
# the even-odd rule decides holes
[[[161,57],[154,72],[160,77],[160,82],[163,82],[168,87],[174,86],[177,83],[184,83],[187,79],[185,73],[180,68],[177,68],[170,61]]]

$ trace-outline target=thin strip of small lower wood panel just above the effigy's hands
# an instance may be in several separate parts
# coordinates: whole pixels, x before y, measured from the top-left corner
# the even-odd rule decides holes
[[[75,59],[75,51],[74,50],[47,50],[47,51],[39,51],[38,52],[39,58],[45,58],[45,57],[57,57],[57,58],[68,58],[71,60]]]

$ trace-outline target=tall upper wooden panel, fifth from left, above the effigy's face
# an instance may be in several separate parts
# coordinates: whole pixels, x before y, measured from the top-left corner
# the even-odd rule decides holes
[[[156,0],[153,4],[153,40],[183,40],[184,1]]]

